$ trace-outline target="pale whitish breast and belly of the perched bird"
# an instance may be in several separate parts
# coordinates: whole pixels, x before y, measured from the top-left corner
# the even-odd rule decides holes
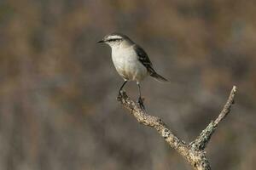
[[[113,65],[125,80],[141,82],[147,75],[146,67],[137,59],[132,47],[112,48]]]

